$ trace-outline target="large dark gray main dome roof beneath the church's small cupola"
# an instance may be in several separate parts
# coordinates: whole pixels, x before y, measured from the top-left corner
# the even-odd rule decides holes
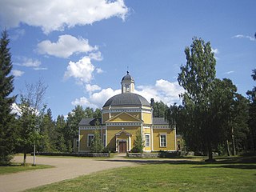
[[[150,106],[150,103],[139,94],[123,93],[107,100],[105,106]]]

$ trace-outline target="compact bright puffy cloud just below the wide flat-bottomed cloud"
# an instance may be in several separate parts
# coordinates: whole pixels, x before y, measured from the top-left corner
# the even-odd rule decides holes
[[[95,67],[91,63],[90,58],[85,56],[78,62],[69,62],[64,78],[76,78],[79,84],[88,83],[93,78],[94,70]]]

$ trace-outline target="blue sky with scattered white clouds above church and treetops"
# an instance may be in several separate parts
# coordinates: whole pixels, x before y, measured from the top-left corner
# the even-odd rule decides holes
[[[127,66],[150,100],[179,102],[179,67],[193,37],[210,41],[217,78],[246,95],[256,67],[256,1],[0,0],[10,35],[14,94],[42,78],[45,102],[66,115],[75,105],[102,107]]]

